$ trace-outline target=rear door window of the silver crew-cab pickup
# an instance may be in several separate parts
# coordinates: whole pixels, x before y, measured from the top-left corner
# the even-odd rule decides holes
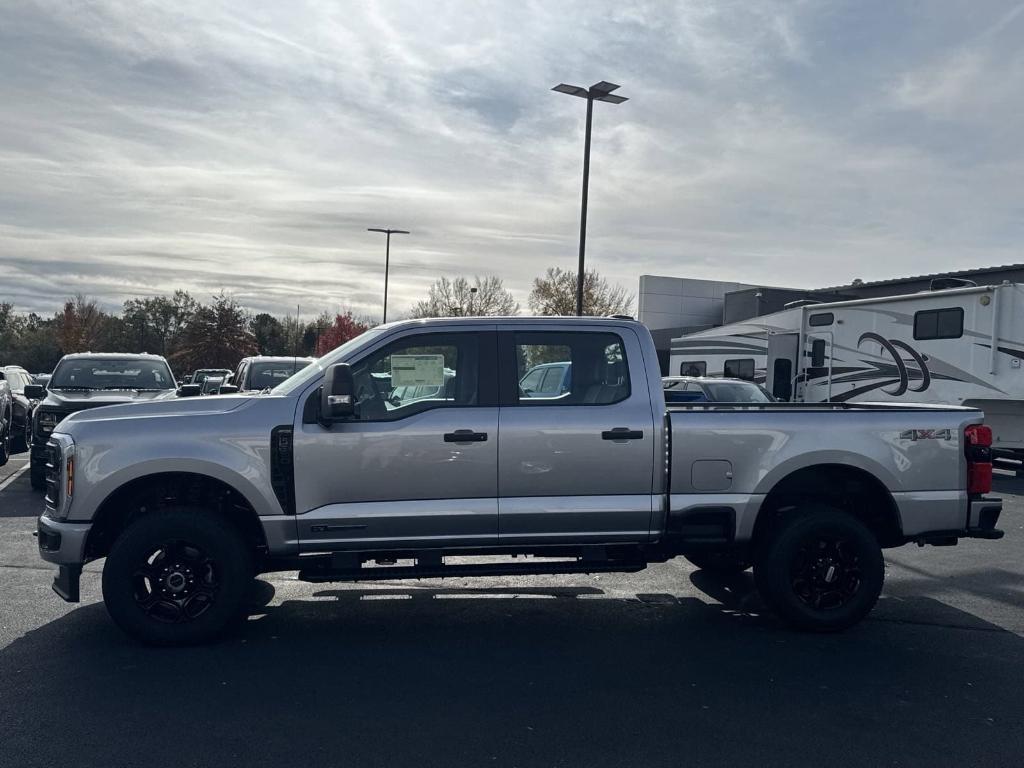
[[[626,347],[616,334],[516,333],[514,349],[520,406],[608,406],[630,396]]]

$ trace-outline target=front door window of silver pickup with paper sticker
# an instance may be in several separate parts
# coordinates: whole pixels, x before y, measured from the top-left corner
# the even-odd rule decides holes
[[[352,365],[359,421],[395,421],[479,402],[480,336],[419,334]]]

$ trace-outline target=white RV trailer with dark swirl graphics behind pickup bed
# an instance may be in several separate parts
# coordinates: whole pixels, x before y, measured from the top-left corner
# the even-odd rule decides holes
[[[670,366],[786,400],[973,406],[993,449],[1024,458],[1022,285],[805,304],[673,339]]]

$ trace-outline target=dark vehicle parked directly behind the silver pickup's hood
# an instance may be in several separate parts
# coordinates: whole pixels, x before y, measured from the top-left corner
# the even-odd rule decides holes
[[[53,428],[76,411],[174,397],[177,387],[167,360],[156,354],[79,352],[66,354],[46,387],[25,388],[42,400],[32,419],[32,487],[46,487],[46,441]]]

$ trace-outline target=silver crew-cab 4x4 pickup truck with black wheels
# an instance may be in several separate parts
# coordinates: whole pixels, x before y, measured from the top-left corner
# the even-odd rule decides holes
[[[552,360],[571,362],[567,388],[524,392]],[[883,548],[1001,536],[989,442],[965,408],[667,410],[629,319],[410,321],[268,392],[69,416],[39,548],[69,601],[105,557],[109,612],[155,644],[222,633],[259,572],[636,571],[679,555],[753,565],[778,614],[840,630],[874,605]]]

